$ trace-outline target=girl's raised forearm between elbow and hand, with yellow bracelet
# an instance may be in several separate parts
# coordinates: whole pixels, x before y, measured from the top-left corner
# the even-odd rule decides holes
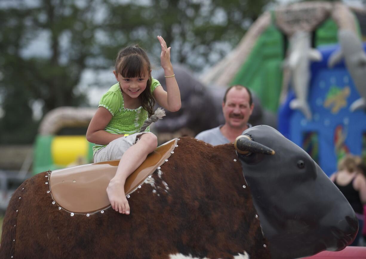
[[[174,74],[173,67],[169,69],[164,69],[164,74],[166,76],[165,82],[167,84],[167,93],[168,93],[168,110],[175,112],[180,109],[182,106],[180,101],[180,92],[177,80],[175,77],[171,77]]]

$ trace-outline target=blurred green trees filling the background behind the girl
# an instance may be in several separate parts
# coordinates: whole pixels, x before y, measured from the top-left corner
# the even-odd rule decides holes
[[[120,48],[139,43],[159,66],[157,35],[172,62],[196,71],[219,61],[274,0],[1,0],[0,143],[31,143],[44,114],[86,104],[82,72],[113,66]],[[34,51],[37,49],[37,51]]]

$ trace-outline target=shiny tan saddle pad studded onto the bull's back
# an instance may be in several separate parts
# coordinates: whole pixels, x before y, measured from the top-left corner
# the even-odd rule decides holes
[[[157,147],[146,160],[127,178],[126,196],[169,158],[177,139]],[[110,206],[107,196],[109,181],[115,176],[119,160],[84,164],[54,170],[49,177],[53,200],[70,212],[87,213]]]

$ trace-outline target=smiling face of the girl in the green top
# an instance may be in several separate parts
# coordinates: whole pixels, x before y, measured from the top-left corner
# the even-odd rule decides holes
[[[119,85],[124,93],[131,98],[138,97],[145,89],[150,73],[145,73],[142,77],[125,78],[120,73],[113,71]]]

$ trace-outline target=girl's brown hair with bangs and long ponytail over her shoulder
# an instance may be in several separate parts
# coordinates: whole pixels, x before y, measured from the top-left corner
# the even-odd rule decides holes
[[[141,106],[147,111],[148,116],[154,114],[155,99],[151,92],[152,77],[151,65],[146,52],[138,45],[129,46],[118,52],[116,59],[116,72],[124,78],[145,77],[149,74],[145,90],[139,95]]]

